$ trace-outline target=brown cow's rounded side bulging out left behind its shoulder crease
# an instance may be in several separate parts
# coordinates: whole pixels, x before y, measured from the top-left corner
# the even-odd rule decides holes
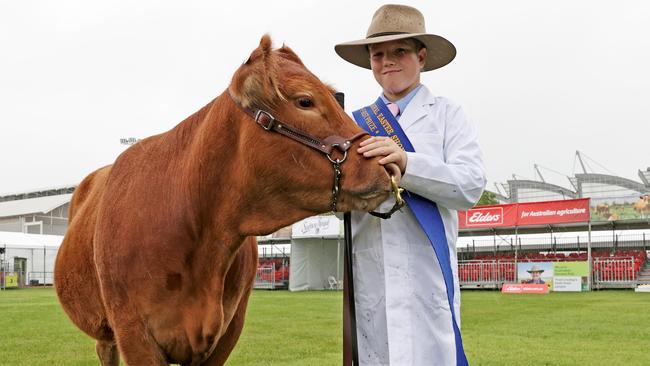
[[[81,330],[98,340],[113,338],[93,259],[97,211],[110,170],[111,166],[96,170],[75,189],[68,229],[54,268],[54,283],[63,309]]]

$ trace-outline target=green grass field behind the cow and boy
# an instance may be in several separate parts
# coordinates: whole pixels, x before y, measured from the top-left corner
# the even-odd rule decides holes
[[[472,365],[650,365],[650,294],[465,291]],[[340,365],[341,292],[255,291],[228,365]],[[52,289],[0,292],[0,365],[97,365]]]

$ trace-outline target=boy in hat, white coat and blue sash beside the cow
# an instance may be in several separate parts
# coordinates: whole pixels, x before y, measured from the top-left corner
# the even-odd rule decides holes
[[[456,210],[471,208],[486,180],[474,125],[460,106],[420,84],[420,72],[448,64],[456,49],[426,33],[417,9],[385,5],[365,39],[335,50],[371,69],[382,88],[374,104],[354,112],[372,136],[358,153],[397,164],[408,192],[407,207],[388,220],[352,213],[360,364],[467,364],[459,332]],[[378,211],[392,205],[391,198]]]

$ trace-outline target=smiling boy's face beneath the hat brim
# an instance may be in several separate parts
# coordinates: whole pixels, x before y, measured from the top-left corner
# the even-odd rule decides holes
[[[372,44],[368,49],[372,73],[391,101],[406,96],[420,83],[426,48],[416,52],[413,40],[397,40]]]

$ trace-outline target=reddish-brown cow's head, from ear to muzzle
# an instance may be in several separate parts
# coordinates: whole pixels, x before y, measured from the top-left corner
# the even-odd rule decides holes
[[[321,141],[362,132],[337,103],[335,91],[307,70],[290,48],[272,49],[268,36],[237,70],[229,91],[235,103],[244,108],[267,111],[278,121]],[[269,215],[282,215],[285,210],[284,215],[299,219],[330,210],[335,173],[326,154],[266,131],[249,115],[238,123],[245,124],[237,148],[248,154],[247,164],[254,174],[249,181],[261,183],[257,187],[260,200],[272,197],[277,201],[274,207],[278,212]],[[341,164],[338,211],[369,211],[389,194],[386,169],[378,159],[367,159],[356,152],[364,138],[352,142]],[[342,159],[343,154],[335,151],[331,157]]]

